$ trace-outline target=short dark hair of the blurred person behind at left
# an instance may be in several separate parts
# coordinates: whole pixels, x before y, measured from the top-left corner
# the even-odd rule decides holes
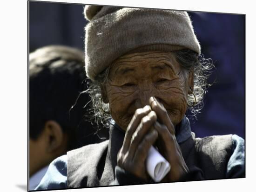
[[[29,137],[36,140],[45,123],[54,120],[68,134],[68,148],[80,147],[84,143],[76,143],[75,136],[79,124],[85,123],[83,106],[89,100],[87,94],[77,99],[86,88],[83,52],[52,45],[30,53],[29,57]],[[95,132],[88,122],[82,129],[87,134]],[[89,139],[93,138],[87,138],[92,143]]]

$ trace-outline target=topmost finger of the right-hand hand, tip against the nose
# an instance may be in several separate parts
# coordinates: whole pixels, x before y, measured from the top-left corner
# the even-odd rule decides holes
[[[159,101],[157,101],[157,99],[152,96],[149,98],[149,103],[151,106],[151,109],[155,111],[157,118],[167,126],[169,132],[173,135],[175,135],[175,128],[173,123],[170,120],[170,117],[166,111],[166,109],[164,108],[164,106],[162,105],[162,103],[160,103]]]

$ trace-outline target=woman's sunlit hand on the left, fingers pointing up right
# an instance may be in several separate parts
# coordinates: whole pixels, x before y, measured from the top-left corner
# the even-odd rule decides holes
[[[153,128],[156,114],[149,106],[137,109],[126,130],[123,145],[117,155],[117,165],[136,177],[149,179],[145,160],[149,148],[158,137]]]

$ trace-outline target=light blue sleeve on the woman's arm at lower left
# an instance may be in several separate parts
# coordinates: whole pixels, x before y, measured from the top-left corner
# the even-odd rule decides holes
[[[67,188],[67,155],[55,159],[35,190]]]

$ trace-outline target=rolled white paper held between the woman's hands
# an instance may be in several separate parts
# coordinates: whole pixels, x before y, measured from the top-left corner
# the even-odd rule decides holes
[[[170,171],[171,165],[166,159],[151,146],[146,159],[146,168],[149,176],[155,181],[161,181],[164,176]]]

